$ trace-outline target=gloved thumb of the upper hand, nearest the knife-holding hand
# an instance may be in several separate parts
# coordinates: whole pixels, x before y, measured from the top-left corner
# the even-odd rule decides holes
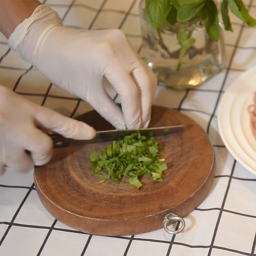
[[[92,96],[87,99],[90,105],[116,129],[126,129],[121,108],[115,104],[102,86],[95,87],[98,91],[92,93]]]

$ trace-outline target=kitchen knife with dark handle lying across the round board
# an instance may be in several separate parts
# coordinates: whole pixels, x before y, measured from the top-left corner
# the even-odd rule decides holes
[[[68,139],[60,134],[50,134],[49,136],[53,140],[53,148],[65,148],[71,145],[83,145],[83,144],[93,144],[99,142],[122,140],[124,136],[129,136],[134,132],[140,132],[141,135],[147,137],[155,137],[166,135],[169,133],[181,132],[187,128],[186,125],[172,125],[165,127],[153,127],[147,129],[136,129],[136,130],[110,130],[110,131],[100,131],[96,132],[96,136],[92,140],[74,140]]]

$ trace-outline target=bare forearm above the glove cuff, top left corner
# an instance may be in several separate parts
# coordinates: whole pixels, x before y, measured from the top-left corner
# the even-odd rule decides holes
[[[0,29],[9,38],[14,29],[41,3],[36,0],[1,0]]]

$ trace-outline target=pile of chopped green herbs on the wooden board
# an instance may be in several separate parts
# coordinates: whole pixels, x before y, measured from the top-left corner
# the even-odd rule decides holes
[[[155,138],[133,133],[123,140],[113,141],[106,149],[102,148],[98,156],[97,151],[90,154],[92,173],[103,180],[116,180],[120,183],[124,176],[129,177],[125,182],[137,189],[142,187],[138,178],[143,175],[152,176],[154,181],[162,181],[163,172],[167,165],[162,158],[164,148],[159,148]]]

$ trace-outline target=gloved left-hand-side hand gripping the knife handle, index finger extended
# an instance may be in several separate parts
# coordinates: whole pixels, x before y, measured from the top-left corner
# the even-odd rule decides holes
[[[88,124],[62,116],[0,86],[1,174],[5,165],[15,171],[29,171],[33,164],[43,165],[50,160],[52,140],[38,127],[73,139],[89,140],[95,136]]]

